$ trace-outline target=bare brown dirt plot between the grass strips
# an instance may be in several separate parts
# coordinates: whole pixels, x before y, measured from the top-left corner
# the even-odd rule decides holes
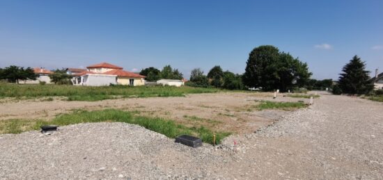
[[[286,111],[257,111],[254,100],[299,101],[291,97],[273,99],[273,93],[267,92],[222,92],[195,94],[186,97],[153,97],[110,99],[104,101],[54,101],[30,99],[0,101],[0,120],[9,119],[52,119],[59,113],[69,113],[73,109],[100,110],[120,108],[126,111],[138,111],[140,115],[164,117],[181,122],[187,126],[208,126],[217,131],[233,133],[252,133],[274,119],[286,114]]]

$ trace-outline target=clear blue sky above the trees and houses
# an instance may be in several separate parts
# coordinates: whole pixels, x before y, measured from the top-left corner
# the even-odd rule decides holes
[[[243,73],[263,44],[308,63],[315,79],[337,79],[354,55],[383,72],[383,1],[0,1],[0,67]]]

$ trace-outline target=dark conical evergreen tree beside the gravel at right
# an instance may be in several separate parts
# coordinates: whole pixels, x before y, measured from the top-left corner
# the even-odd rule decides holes
[[[339,74],[339,88],[343,93],[366,95],[373,90],[373,81],[370,81],[369,71],[366,71],[366,63],[361,58],[354,56]]]

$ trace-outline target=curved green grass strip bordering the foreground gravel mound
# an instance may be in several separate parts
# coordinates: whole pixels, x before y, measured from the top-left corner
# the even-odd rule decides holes
[[[169,138],[175,138],[182,134],[198,136],[203,142],[213,143],[213,135],[216,134],[217,143],[229,136],[228,132],[214,132],[204,126],[187,127],[177,124],[172,120],[165,120],[160,117],[144,117],[135,115],[134,112],[121,111],[116,109],[105,109],[102,111],[73,111],[68,114],[57,115],[53,120],[3,120],[0,121],[1,133],[21,133],[23,131],[38,130],[45,124],[65,126],[86,122],[125,122],[138,124],[146,129],[162,133]]]

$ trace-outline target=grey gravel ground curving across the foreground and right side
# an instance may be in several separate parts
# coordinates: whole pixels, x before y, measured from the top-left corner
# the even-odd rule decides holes
[[[383,104],[321,95],[257,133],[196,149],[131,124],[62,126],[1,135],[0,159],[0,179],[382,179]]]

